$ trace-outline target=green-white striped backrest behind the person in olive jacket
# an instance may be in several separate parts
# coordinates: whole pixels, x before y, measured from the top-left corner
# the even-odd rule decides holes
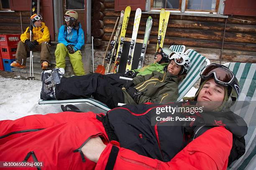
[[[187,94],[197,80],[200,79],[201,70],[210,64],[210,60],[195,50],[188,49],[185,54],[190,58],[191,67],[187,72],[187,76],[179,83],[179,97],[177,101],[181,100]]]

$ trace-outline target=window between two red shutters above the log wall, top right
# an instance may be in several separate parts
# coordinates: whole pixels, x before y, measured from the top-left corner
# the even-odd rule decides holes
[[[197,11],[216,13],[220,0],[151,0],[151,10],[161,8],[169,10]]]

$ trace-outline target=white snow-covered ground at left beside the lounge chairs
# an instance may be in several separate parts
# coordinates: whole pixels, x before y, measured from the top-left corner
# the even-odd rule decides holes
[[[23,116],[62,112],[60,104],[38,105],[42,82],[40,80],[19,80],[19,77],[0,76],[0,120],[15,120]],[[195,95],[192,87],[186,96]],[[83,111],[101,112],[90,105],[78,104]],[[86,110],[85,110],[86,109]]]

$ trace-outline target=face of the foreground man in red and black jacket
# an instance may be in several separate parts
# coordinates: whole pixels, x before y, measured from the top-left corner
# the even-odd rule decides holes
[[[218,85],[214,79],[210,79],[200,90],[197,97],[197,105],[204,106],[204,110],[215,110],[222,105],[224,97],[224,86]]]

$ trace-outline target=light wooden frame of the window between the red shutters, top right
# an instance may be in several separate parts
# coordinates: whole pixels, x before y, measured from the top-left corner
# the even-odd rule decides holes
[[[172,8],[164,8],[165,10],[172,11],[172,12],[180,12],[180,13],[208,13],[208,14],[223,14],[224,8],[224,0],[216,0],[215,11],[213,10],[190,10],[187,9],[188,0],[179,0],[179,9],[172,9]],[[154,0],[149,0],[148,6],[150,7],[148,11],[157,11],[161,10],[160,8],[153,8]]]

